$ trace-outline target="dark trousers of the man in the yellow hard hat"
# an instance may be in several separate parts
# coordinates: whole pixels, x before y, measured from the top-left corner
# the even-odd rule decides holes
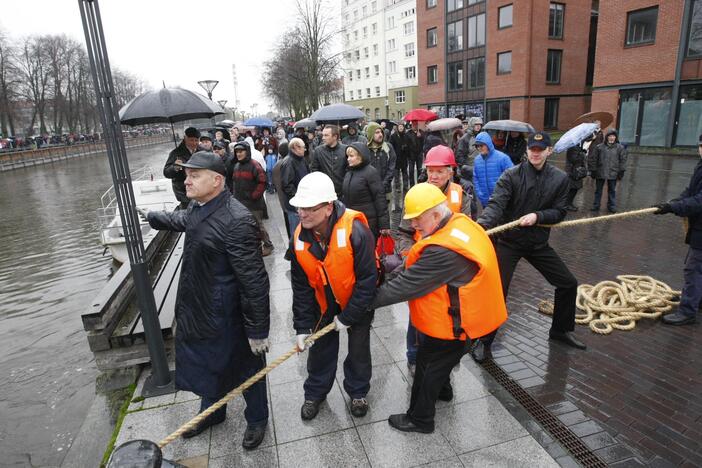
[[[434,429],[436,400],[449,381],[453,369],[467,352],[461,340],[440,340],[422,335],[417,351],[417,370],[412,382],[412,396],[407,416],[417,426]]]

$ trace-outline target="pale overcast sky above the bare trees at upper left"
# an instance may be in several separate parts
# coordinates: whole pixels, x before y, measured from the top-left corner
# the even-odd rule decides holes
[[[269,110],[262,63],[287,29],[295,0],[100,0],[107,52],[113,67],[156,88],[203,92],[199,80],[219,80],[212,99],[234,103],[236,64],[240,108]],[[332,4],[338,3],[338,0]],[[0,27],[13,39],[62,34],[85,43],[78,0],[2,0]],[[203,92],[204,94],[204,92]]]

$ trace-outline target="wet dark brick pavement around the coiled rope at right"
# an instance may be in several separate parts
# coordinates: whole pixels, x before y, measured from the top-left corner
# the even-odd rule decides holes
[[[630,156],[619,185],[621,211],[676,196],[696,158]],[[562,162],[556,161],[557,165]],[[593,216],[587,180],[573,217]],[[603,206],[605,204],[603,203]],[[583,209],[584,207],[584,209]],[[672,215],[555,229],[552,245],[580,283],[647,274],[682,286],[686,246]],[[576,325],[587,351],[549,343],[550,317],[536,311],[551,288],[522,261],[510,286],[510,319],[495,360],[612,466],[702,466],[702,334],[700,325],[640,321],[608,336]]]

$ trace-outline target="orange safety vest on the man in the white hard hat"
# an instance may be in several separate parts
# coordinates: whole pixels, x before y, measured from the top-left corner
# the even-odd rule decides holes
[[[353,269],[353,246],[351,231],[353,222],[358,219],[368,226],[366,216],[360,211],[346,209],[331,230],[324,261],[320,261],[310,252],[311,244],[300,239],[302,224],[295,229],[295,257],[300,264],[307,280],[314,289],[314,296],[322,314],[328,309],[327,295],[324,287],[329,284],[336,302],[342,309],[351,299],[353,287],[356,284],[356,274]]]

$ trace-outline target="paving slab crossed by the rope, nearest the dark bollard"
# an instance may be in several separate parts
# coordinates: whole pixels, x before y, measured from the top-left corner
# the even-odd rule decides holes
[[[189,401],[129,413],[122,422],[115,446],[133,439],[158,442],[188,422],[199,410],[199,401]],[[187,441],[182,438],[176,439],[163,449],[163,456],[170,460],[182,460],[207,455],[210,449],[210,430],[207,429]]]

